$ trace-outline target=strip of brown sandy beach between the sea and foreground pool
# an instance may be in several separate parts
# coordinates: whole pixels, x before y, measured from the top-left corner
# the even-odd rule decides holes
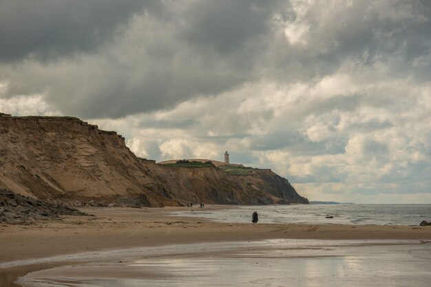
[[[221,208],[235,207],[207,207]],[[253,225],[169,216],[170,212],[185,210],[185,207],[81,210],[94,216],[68,216],[63,221],[38,222],[35,225],[0,225],[1,286],[8,286],[17,276],[25,275],[28,271],[62,265],[61,257],[56,262],[44,262],[41,258],[76,253],[98,254],[110,250],[156,248],[173,244],[259,240],[410,240],[419,244],[431,240],[431,228],[419,226]],[[202,211],[198,208],[194,210]],[[68,261],[92,260],[80,260],[77,257]],[[97,261],[97,258],[93,258],[93,261]]]

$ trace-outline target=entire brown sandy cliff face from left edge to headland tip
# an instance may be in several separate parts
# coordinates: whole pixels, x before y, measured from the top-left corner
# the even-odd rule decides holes
[[[63,200],[140,196],[151,206],[307,203],[271,171],[233,176],[215,166],[158,165],[136,157],[117,133],[74,117],[0,114],[0,188]]]

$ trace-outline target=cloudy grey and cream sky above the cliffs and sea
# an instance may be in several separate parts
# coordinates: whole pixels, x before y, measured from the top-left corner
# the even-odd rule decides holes
[[[156,161],[228,150],[309,200],[431,203],[431,2],[0,0],[0,112]]]

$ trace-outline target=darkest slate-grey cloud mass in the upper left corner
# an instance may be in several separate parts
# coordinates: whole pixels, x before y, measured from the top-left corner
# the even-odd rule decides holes
[[[143,12],[139,0],[2,0],[0,61],[52,60],[93,51]],[[147,3],[148,4],[148,3]]]

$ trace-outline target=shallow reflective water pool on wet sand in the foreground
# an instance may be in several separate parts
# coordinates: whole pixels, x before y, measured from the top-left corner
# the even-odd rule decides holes
[[[431,244],[308,241],[189,244],[60,266],[25,286],[429,286]],[[193,251],[193,252],[191,252]],[[170,255],[169,255],[170,254]]]

